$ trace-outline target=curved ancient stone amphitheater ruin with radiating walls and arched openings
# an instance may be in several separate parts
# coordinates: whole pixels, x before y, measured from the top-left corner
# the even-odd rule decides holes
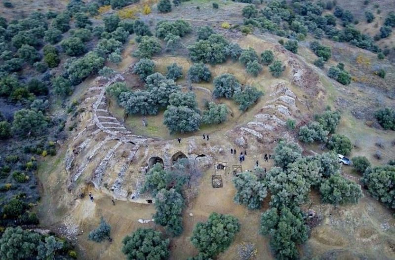
[[[306,109],[308,105],[287,85],[296,85],[305,92],[308,85],[317,84],[317,80],[313,83],[301,80],[306,75],[314,75],[314,78],[316,75],[295,60],[289,60],[288,65],[292,69],[293,82],[279,81],[269,86],[266,95],[270,100],[253,120],[225,133],[229,145],[214,145],[209,149],[199,146],[194,137],[183,139],[183,144],[187,145],[182,149],[174,140],[134,135],[109,111],[105,92],[112,83],[123,81],[125,74],[131,73],[132,66],[110,79],[97,77],[84,95],[80,105],[84,112],[79,114],[79,127],[66,154],[69,190],[76,191],[79,184],[85,182],[117,199],[146,203],[150,198],[139,194],[139,187],[144,182],[144,174],[155,163],[170,168],[179,158],[188,158],[194,167],[205,170],[215,162],[216,154],[223,154],[235,144],[245,148],[261,143],[273,148],[279,138],[292,140],[285,131],[285,121],[287,118],[303,120],[300,108]]]

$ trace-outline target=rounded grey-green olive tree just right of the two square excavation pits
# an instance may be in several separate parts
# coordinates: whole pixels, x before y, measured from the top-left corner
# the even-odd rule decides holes
[[[233,178],[233,184],[237,189],[234,197],[234,201],[237,204],[245,205],[251,210],[262,207],[262,201],[268,193],[265,184],[258,181],[254,173],[240,173]]]

